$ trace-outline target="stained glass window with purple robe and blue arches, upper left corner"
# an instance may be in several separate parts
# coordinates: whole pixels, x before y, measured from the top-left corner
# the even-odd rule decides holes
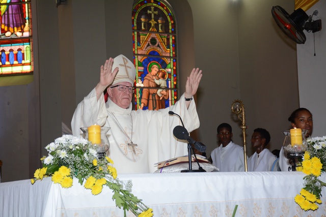
[[[0,8],[0,76],[32,74],[31,0],[0,0]]]

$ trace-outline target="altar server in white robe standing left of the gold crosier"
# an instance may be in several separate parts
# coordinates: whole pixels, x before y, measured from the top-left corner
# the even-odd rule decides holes
[[[219,147],[211,152],[213,165],[220,172],[244,171],[243,147],[231,141],[232,127],[228,123],[221,123],[218,127]]]

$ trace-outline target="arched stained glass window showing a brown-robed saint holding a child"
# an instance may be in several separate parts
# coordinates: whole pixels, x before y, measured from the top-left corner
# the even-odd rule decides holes
[[[132,8],[135,108],[158,110],[178,99],[176,21],[165,1],[138,0]]]

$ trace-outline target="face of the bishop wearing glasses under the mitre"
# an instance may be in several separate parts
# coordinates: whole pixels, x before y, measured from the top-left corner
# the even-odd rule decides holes
[[[121,88],[119,88],[119,86],[117,85],[124,85],[127,88],[125,88],[125,90],[120,90]],[[131,92],[129,91],[129,87],[132,87],[132,84],[129,82],[119,82],[113,86],[116,87],[107,88],[108,96],[110,97],[112,102],[114,102],[121,108],[127,109],[130,106],[131,99],[132,99],[132,91]]]

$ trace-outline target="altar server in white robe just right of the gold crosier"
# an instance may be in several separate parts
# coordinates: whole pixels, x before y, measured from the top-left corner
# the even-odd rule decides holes
[[[271,153],[266,145],[270,141],[268,131],[257,128],[251,137],[251,145],[256,149],[255,153],[248,160],[249,172],[270,171],[277,157]]]

